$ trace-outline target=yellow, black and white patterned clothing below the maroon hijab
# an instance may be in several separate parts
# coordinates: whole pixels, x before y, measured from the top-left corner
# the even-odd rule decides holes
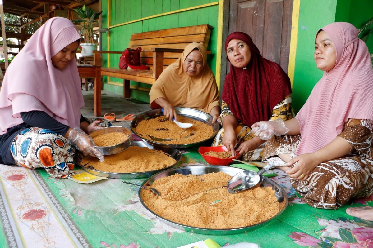
[[[279,102],[272,110],[272,116],[270,120],[276,120],[281,118],[283,120],[291,119],[291,94],[285,97],[281,102]],[[222,113],[219,116],[219,122],[223,123],[224,117],[232,115],[229,106],[224,101],[222,102]],[[242,142],[248,141],[254,138],[254,135],[251,133],[251,127],[248,127],[242,124],[240,121],[238,122],[238,126],[235,129],[237,142],[235,148],[237,148]],[[217,135],[214,138],[212,146],[221,146],[223,144],[223,136],[224,136],[224,128],[220,129]],[[242,155],[241,160],[243,161],[251,161],[251,160],[261,160],[263,156],[263,148],[266,143],[261,144],[258,148],[248,151],[244,155]]]

